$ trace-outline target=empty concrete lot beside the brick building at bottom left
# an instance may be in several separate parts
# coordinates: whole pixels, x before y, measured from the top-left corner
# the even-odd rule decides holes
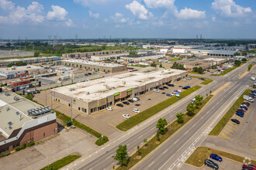
[[[81,129],[64,129],[60,135],[43,141],[39,145],[0,158],[0,169],[40,169],[67,155],[85,155],[97,147],[95,145],[96,140],[97,138]]]

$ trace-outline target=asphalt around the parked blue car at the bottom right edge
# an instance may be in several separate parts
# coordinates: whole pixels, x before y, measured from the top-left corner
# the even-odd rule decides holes
[[[213,159],[211,159],[213,160]],[[241,170],[242,169],[242,165],[239,162],[234,162],[233,160],[230,160],[229,158],[223,158],[223,162],[217,162],[215,160],[213,160],[213,162],[215,162],[217,165],[219,165],[219,169],[225,169],[225,170]],[[195,166],[189,165],[189,164],[184,164],[182,165],[182,168],[180,168],[180,170],[213,170],[213,168],[209,168],[206,165],[203,165],[202,168],[197,168]]]

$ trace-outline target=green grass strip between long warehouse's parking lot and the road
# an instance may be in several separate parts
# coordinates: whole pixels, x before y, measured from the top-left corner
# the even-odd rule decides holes
[[[150,107],[147,110],[142,111],[140,114],[136,114],[135,116],[130,117],[126,121],[123,121],[121,124],[118,124],[116,128],[118,128],[121,131],[127,131],[130,128],[136,126],[137,124],[140,124],[141,122],[145,121],[147,118],[153,116],[154,114],[157,114],[161,110],[164,110],[165,108],[171,106],[171,104],[175,104],[178,100],[181,100],[182,98],[188,96],[190,93],[199,90],[199,88],[201,87],[195,86],[190,88],[189,90],[182,91],[182,93],[180,93],[180,97],[170,97],[167,100],[162,101],[160,104],[156,104],[153,107]]]

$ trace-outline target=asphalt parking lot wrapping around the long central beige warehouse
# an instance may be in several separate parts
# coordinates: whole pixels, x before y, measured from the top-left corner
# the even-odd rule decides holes
[[[95,131],[99,131],[99,133],[104,134],[108,136],[110,139],[115,138],[116,135],[119,135],[120,133],[123,133],[123,131],[119,131],[116,129],[116,125],[122,123],[126,120],[126,118],[122,117],[123,114],[130,114],[130,116],[133,116],[137,113],[133,112],[134,108],[137,108],[138,110],[143,111],[146,110],[149,107],[154,106],[155,104],[160,103],[163,100],[168,99],[169,97],[166,96],[165,93],[170,93],[173,90],[182,90],[182,87],[184,86],[190,86],[193,87],[195,85],[198,85],[201,83],[202,80],[199,80],[198,78],[192,78],[192,80],[180,80],[176,81],[175,87],[168,87],[168,89],[160,90],[160,93],[156,92],[149,92],[145,93],[141,96],[139,96],[140,100],[134,103],[130,103],[130,105],[123,104],[123,107],[117,107],[112,106],[113,110],[100,110],[99,112],[95,112],[94,114],[82,114],[78,110],[73,110],[73,117],[80,121],[83,124],[88,125],[90,128],[94,129]],[[182,87],[179,87],[182,86]],[[164,94],[163,94],[164,92]],[[47,96],[47,106],[50,106],[50,93],[47,91],[46,93],[43,91],[39,94],[36,94],[34,97],[34,100],[37,100],[40,104],[46,104],[45,97]],[[118,102],[118,104],[121,102]],[[140,104],[140,106],[135,106],[135,104]],[[64,114],[67,114],[68,116],[71,116],[70,107],[64,106],[62,104],[53,102],[53,107],[56,110],[61,111]]]

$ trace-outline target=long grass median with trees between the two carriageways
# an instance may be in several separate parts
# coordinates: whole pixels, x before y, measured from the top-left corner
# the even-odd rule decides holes
[[[179,128],[182,128],[183,125],[185,125],[188,121],[192,119],[192,117],[195,117],[196,114],[199,113],[199,111],[204,107],[208,101],[213,97],[213,95],[209,95],[206,97],[206,99],[202,100],[202,105],[199,106],[199,108],[195,109],[194,115],[189,116],[185,114],[184,117],[184,123],[178,124],[177,119],[171,123],[171,130],[170,130],[170,124],[166,127],[167,131],[165,134],[160,134],[159,139],[157,141],[157,135],[155,135],[153,138],[150,139],[146,144],[144,144],[143,147],[140,148],[141,154],[139,155],[139,152],[136,151],[128,160],[128,164],[125,166],[119,166],[117,169],[120,170],[126,170],[132,168],[134,165],[136,165],[142,158],[147,156],[151,151],[153,151],[155,148],[157,148],[161,143],[166,141],[168,138],[171,137],[172,134],[175,134],[176,131],[178,131]]]

